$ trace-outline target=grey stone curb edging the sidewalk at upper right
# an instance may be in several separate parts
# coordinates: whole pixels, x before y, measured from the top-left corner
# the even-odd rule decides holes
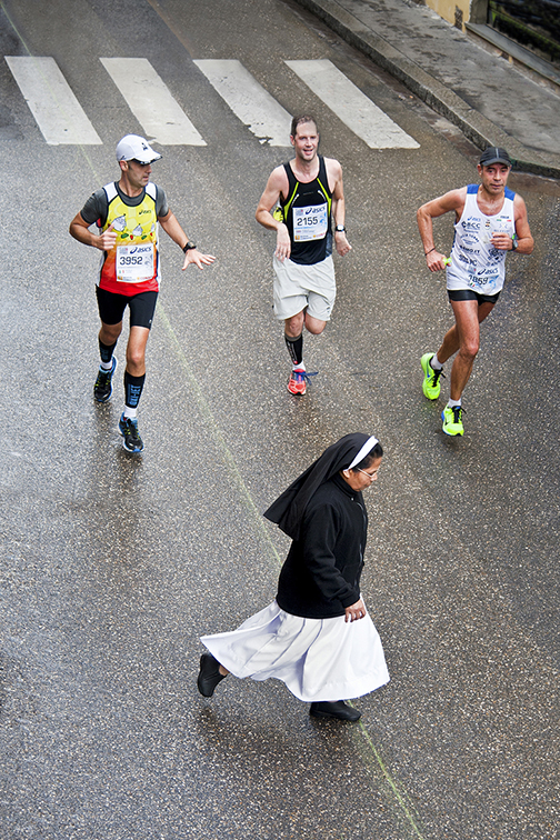
[[[513,167],[516,170],[546,178],[560,178],[560,154],[550,156],[528,149],[491,120],[470,108],[457,93],[429,76],[396,47],[377,36],[336,0],[296,0],[296,2],[317,14],[347,43],[363,52],[430,108],[460,128],[479,149],[486,149],[487,146],[504,147],[516,160]]]

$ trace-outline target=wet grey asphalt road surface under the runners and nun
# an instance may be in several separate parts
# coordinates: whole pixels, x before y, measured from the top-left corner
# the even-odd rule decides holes
[[[141,8],[140,8],[141,7]],[[234,11],[232,11],[234,9]],[[474,180],[472,149],[290,4],[1,4],[2,54],[52,56],[103,146],[49,147],[4,63],[1,264],[1,833],[7,840],[549,840],[558,837],[560,189],[512,176],[534,254],[511,257],[448,439],[420,356],[450,324],[414,211]],[[11,22],[8,22],[7,16]],[[17,31],[16,31],[17,30]],[[97,252],[68,224],[141,129],[99,57],[146,57],[207,138],[153,180],[218,261],[163,286],[141,458],[92,401]],[[286,391],[272,237],[253,213],[286,150],[261,146],[192,64],[238,58],[289,111],[312,107],[344,169],[353,251],[320,373]],[[420,143],[368,149],[284,58],[330,58]],[[449,249],[449,219],[437,224]],[[449,380],[448,380],[449,382]],[[447,383],[448,387],[448,383]],[[287,539],[261,511],[353,430],[386,448],[368,496],[363,591],[391,682],[357,727],[309,719],[282,684],[196,691],[202,633],[264,606]]]

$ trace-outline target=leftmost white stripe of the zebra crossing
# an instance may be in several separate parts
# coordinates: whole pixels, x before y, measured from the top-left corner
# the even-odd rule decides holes
[[[49,146],[101,144],[53,58],[6,56],[6,62]]]

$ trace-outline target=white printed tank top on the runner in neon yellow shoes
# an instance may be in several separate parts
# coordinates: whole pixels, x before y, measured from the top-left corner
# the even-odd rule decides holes
[[[506,188],[503,204],[496,216],[484,216],[477,202],[479,184],[467,187],[461,218],[454,226],[451,264],[447,269],[447,288],[472,289],[479,294],[498,294],[503,288],[507,251],[499,251],[490,239],[493,233],[513,237],[516,193]]]

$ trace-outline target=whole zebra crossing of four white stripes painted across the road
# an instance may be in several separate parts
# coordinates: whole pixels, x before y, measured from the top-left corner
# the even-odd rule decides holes
[[[6,61],[47,143],[101,143],[54,59],[8,56]],[[161,146],[207,146],[148,59],[100,61],[151,141]],[[198,59],[193,63],[261,144],[290,144],[291,114],[240,61]],[[284,63],[370,149],[420,148],[328,59]]]

